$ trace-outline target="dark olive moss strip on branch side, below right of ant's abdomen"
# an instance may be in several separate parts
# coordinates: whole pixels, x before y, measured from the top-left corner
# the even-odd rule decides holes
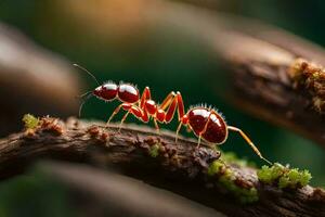
[[[217,184],[226,189],[233,194],[240,203],[253,203],[259,200],[258,191],[256,188],[243,188],[236,184],[234,173],[220,161],[214,161],[208,168],[209,176],[218,176]]]

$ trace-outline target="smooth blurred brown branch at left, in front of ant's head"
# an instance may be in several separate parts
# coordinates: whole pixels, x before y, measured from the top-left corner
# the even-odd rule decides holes
[[[0,23],[0,136],[21,128],[22,115],[77,113],[79,81],[72,65]]]

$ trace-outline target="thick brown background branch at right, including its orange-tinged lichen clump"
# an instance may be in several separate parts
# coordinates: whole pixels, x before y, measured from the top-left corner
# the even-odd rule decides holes
[[[277,64],[234,58],[229,67],[235,87],[230,99],[238,107],[325,145],[321,66],[302,59]]]

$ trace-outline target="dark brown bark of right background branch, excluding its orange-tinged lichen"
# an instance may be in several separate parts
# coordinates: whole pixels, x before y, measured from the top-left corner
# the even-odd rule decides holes
[[[294,88],[290,66],[249,60],[232,66],[236,90],[232,99],[237,106],[325,145],[323,100],[317,101],[321,98],[307,89]]]

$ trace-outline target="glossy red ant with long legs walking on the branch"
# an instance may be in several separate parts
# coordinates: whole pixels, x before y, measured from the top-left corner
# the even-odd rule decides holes
[[[222,115],[219,114],[216,110],[202,105],[191,107],[185,114],[184,103],[180,92],[170,92],[165,98],[161,104],[157,104],[152,100],[151,90],[148,87],[144,88],[143,93],[140,97],[138,88],[131,84],[116,85],[115,82],[108,81],[100,85],[98,79],[89,71],[77,64],[74,65],[88,73],[99,85],[99,87],[94,90],[88,91],[84,94],[80,95],[81,98],[87,95],[87,99],[89,99],[90,97],[95,95],[103,101],[113,101],[115,99],[118,99],[122,102],[115,108],[115,111],[108,118],[106,126],[112,120],[112,118],[120,111],[120,108],[123,108],[125,111],[127,111],[127,113],[122,117],[120,125],[131,113],[143,123],[148,123],[150,118],[152,117],[157,131],[159,131],[157,122],[166,124],[170,123],[174,116],[176,111],[178,110],[178,119],[180,124],[177,129],[176,142],[178,141],[179,131],[183,125],[198,137],[197,148],[199,146],[202,139],[211,144],[222,144],[227,139],[229,130],[236,131],[244,138],[244,140],[250,145],[250,148],[260,158],[272,165],[270,161],[262,156],[258,148],[252,143],[249,137],[242,129],[233,126],[227,126]],[[84,104],[87,99],[80,105],[79,116],[81,114],[82,105]]]

